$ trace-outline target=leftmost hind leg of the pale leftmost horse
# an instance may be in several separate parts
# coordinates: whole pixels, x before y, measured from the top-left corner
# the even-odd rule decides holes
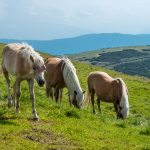
[[[10,88],[10,79],[9,79],[9,74],[8,72],[5,70],[3,70],[3,74],[5,76],[6,79],[6,83],[7,83],[7,88],[8,88],[8,107],[10,107],[12,105],[12,98],[11,98],[11,88]]]

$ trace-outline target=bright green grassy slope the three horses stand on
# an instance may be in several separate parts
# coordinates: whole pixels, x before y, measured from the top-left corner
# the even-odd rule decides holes
[[[83,89],[87,75],[94,70],[122,77],[129,89],[129,118],[117,120],[112,104],[108,103],[102,103],[103,114],[96,115],[91,113],[91,108],[70,107],[66,90],[62,104],[55,104],[46,98],[45,89],[35,84],[40,120],[34,122],[27,83],[22,84],[20,114],[15,114],[14,108],[7,108],[7,87],[1,75],[0,149],[150,149],[150,80],[78,62],[74,65]]]

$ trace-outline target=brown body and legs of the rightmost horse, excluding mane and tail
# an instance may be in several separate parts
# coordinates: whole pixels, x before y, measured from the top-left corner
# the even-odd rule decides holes
[[[113,79],[105,72],[92,72],[88,76],[87,83],[88,94],[91,97],[93,106],[93,113],[95,113],[94,94],[96,94],[99,111],[101,112],[100,101],[110,102],[114,104],[115,111],[119,117],[119,103],[122,97],[122,84],[120,79]]]

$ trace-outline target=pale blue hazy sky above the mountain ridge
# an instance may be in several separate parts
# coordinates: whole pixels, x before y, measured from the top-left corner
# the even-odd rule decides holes
[[[0,38],[150,33],[150,0],[0,0]]]

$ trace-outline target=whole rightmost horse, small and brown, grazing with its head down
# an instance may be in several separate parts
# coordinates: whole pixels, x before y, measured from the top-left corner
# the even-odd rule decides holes
[[[122,79],[113,79],[107,73],[97,71],[89,74],[87,84],[85,103],[89,103],[91,99],[93,113],[95,113],[94,94],[96,94],[99,112],[101,112],[100,101],[104,101],[114,104],[117,118],[124,119],[128,116],[128,90]]]

